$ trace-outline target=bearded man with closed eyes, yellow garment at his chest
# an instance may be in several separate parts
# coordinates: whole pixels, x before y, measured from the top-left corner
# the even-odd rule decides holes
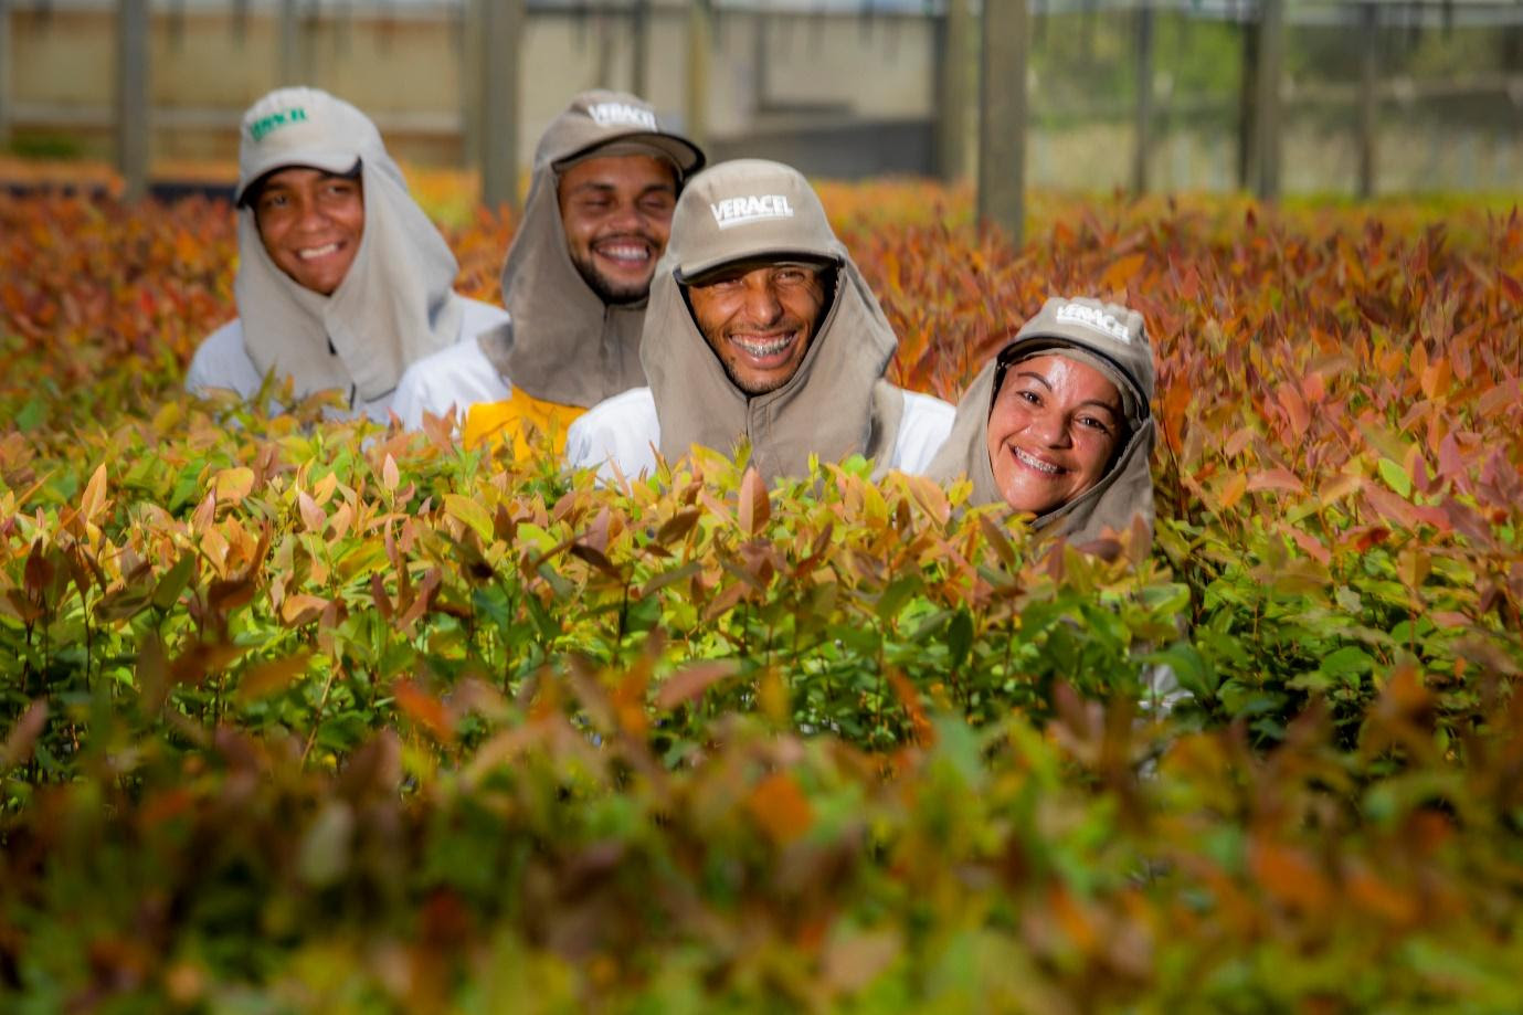
[[[466,443],[528,430],[559,451],[586,407],[646,383],[640,329],[672,209],[704,165],[647,102],[583,91],[539,139],[524,219],[503,268],[510,320],[417,363],[398,393],[404,425],[463,418]]]

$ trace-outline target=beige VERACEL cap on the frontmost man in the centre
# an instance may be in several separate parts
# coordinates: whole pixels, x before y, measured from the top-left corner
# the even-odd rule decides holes
[[[737,158],[693,177],[672,215],[667,258],[684,285],[737,261],[845,262],[815,189],[798,169]]]

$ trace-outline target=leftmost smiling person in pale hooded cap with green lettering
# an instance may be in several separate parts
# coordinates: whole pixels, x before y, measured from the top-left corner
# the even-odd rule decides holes
[[[196,349],[192,393],[248,398],[274,375],[385,422],[410,363],[506,317],[454,291],[449,245],[350,104],[271,91],[244,114],[238,171],[239,315]]]

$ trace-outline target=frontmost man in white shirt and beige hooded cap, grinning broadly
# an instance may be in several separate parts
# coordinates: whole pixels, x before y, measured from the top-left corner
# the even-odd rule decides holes
[[[634,477],[655,451],[746,442],[768,480],[806,474],[812,454],[918,472],[953,410],[883,379],[897,344],[809,181],[775,162],[717,165],[682,192],[650,283],[650,386],[576,421],[567,457]]]

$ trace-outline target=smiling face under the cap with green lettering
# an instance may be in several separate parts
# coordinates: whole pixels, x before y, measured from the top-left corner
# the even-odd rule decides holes
[[[254,198],[259,239],[276,267],[332,296],[359,253],[366,195],[358,178],[291,166],[270,174]]]

